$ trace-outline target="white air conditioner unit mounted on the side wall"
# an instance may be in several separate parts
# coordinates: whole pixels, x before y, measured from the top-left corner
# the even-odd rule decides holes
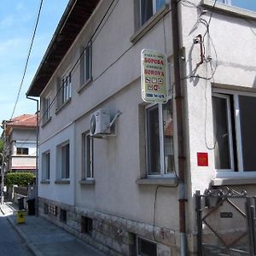
[[[90,116],[90,135],[110,133],[110,113],[108,110],[98,109]]]

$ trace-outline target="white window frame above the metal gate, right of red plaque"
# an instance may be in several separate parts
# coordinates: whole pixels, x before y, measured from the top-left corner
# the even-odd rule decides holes
[[[245,172],[243,169],[243,159],[242,159],[242,138],[241,138],[241,119],[240,119],[240,108],[239,108],[239,96],[250,96],[256,97],[256,93],[238,91],[238,90],[224,90],[224,89],[213,89],[212,96],[218,96],[223,98],[233,97],[234,102],[234,113],[230,111],[230,105],[228,106],[228,122],[230,129],[230,136],[232,136],[232,124],[231,124],[231,114],[234,115],[234,123],[235,123],[235,132],[233,137],[236,139],[236,145],[230,143],[230,158],[231,158],[231,169],[230,170],[218,170],[216,169],[216,177],[255,177],[256,170],[251,172]],[[227,102],[227,105],[230,104],[230,100]],[[212,119],[213,121],[213,119]],[[213,125],[213,123],[212,123]],[[213,126],[214,127],[214,126]],[[234,129],[233,129],[234,130]],[[232,137],[230,137],[230,142],[232,142]],[[236,159],[237,159],[237,168],[235,170],[235,159],[234,159],[234,150],[236,150]]]

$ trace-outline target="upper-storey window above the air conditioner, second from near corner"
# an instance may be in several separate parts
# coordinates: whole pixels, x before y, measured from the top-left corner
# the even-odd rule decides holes
[[[81,58],[81,86],[89,82],[91,79],[91,44],[83,49]]]

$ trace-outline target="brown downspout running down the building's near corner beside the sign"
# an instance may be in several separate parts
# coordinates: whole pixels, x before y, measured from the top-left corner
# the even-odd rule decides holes
[[[181,255],[187,255],[186,235],[186,186],[185,186],[185,148],[183,131],[183,92],[180,77],[180,42],[178,29],[177,0],[171,0],[172,9],[172,47],[174,64],[175,102],[177,116],[177,160],[178,160],[178,189],[179,189],[179,232]]]

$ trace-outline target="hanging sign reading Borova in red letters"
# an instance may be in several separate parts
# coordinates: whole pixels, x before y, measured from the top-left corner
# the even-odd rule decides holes
[[[166,55],[150,49],[142,54],[142,96],[145,102],[167,102]]]

